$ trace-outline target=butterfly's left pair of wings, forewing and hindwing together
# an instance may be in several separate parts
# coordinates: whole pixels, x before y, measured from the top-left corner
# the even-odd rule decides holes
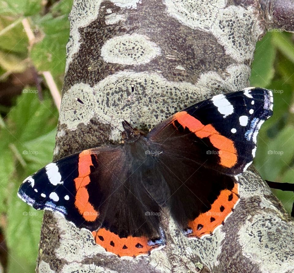
[[[148,214],[159,207],[143,187],[139,189],[140,173],[129,163],[120,145],[85,150],[25,179],[18,196],[91,231],[107,251],[119,256],[148,254],[165,244],[160,218]]]

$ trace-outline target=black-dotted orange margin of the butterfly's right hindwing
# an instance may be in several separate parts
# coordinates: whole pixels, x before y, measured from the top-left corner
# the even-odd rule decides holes
[[[188,227],[192,229],[192,233],[188,237],[202,237],[213,231],[224,223],[225,219],[239,200],[239,184],[236,183],[232,190],[224,189],[211,205],[211,209],[200,214],[193,221],[188,223]]]

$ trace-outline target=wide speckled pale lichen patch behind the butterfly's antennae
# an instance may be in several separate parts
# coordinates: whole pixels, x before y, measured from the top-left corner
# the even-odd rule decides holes
[[[77,103],[77,96],[88,105],[87,109]],[[88,123],[96,112],[100,122],[114,127],[111,140],[121,140],[123,120],[131,120],[135,127],[144,122],[151,128],[201,98],[200,88],[193,84],[168,81],[157,73],[125,70],[106,77],[93,88],[88,84],[73,85],[63,95],[59,120],[68,129],[76,129],[79,123]],[[164,110],[159,110],[158,103],[164,104]]]

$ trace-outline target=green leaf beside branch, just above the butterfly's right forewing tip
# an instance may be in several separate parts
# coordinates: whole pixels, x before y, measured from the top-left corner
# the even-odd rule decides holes
[[[276,50],[272,44],[272,34],[268,32],[256,43],[254,60],[251,65],[251,86],[266,87],[274,75]]]

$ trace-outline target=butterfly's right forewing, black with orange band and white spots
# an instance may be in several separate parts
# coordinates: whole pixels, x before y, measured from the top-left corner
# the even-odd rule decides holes
[[[246,88],[192,105],[155,127],[148,137],[198,165],[205,159],[206,167],[236,175],[252,163],[258,130],[272,109],[271,91]]]

